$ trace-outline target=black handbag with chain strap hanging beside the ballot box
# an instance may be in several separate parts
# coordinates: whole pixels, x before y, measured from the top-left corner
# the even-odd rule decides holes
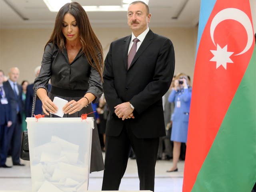
[[[33,104],[32,104],[32,115],[31,117],[34,116],[35,112],[35,107],[36,107],[36,92],[39,88],[44,88],[47,91],[47,95],[49,97],[49,92],[46,86],[44,85],[38,85],[35,88],[34,91],[34,97],[33,97]],[[50,117],[52,117],[52,114],[50,114]],[[28,148],[28,131],[24,131],[22,134],[22,142],[21,142],[21,149],[20,149],[20,158],[22,160],[29,161],[29,148]]]

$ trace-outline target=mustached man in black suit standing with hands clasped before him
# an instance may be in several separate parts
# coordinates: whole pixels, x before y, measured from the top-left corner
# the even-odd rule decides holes
[[[103,90],[110,113],[102,190],[118,190],[132,146],[140,190],[154,191],[159,137],[165,136],[162,96],[172,81],[174,49],[148,28],[150,17],[147,4],[132,2],[132,35],[112,42],[105,59]]]

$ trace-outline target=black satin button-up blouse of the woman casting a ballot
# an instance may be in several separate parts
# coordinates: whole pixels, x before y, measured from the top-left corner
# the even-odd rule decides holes
[[[53,46],[52,43],[46,45],[40,74],[34,81],[34,88],[41,84],[47,86],[49,80],[54,87],[87,90],[85,93],[92,93],[96,98],[100,98],[103,92],[100,74],[90,66],[82,50],[72,63],[69,63],[66,49],[62,52],[56,44]]]

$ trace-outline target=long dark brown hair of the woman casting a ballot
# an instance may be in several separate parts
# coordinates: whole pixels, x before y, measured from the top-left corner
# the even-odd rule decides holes
[[[62,33],[62,22],[64,15],[70,13],[76,19],[76,24],[80,33],[80,42],[82,44],[82,52],[86,55],[89,64],[94,67],[102,78],[103,71],[103,52],[100,41],[96,37],[92,26],[89,22],[89,18],[82,6],[77,2],[67,3],[60,8],[56,20],[52,35],[46,45],[50,42],[57,44],[60,50],[65,49],[66,38]],[[46,46],[45,46],[46,47]],[[45,48],[44,47],[44,48]],[[93,65],[93,61],[95,65]]]

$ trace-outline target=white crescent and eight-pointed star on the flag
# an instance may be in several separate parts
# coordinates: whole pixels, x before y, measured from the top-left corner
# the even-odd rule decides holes
[[[215,30],[216,26],[220,22],[222,22],[224,20],[228,20],[228,19],[240,22],[244,26],[246,33],[247,33],[247,37],[248,37],[247,44],[246,44],[244,50],[242,50],[242,52],[240,52],[238,54],[235,54],[235,56],[244,54],[245,52],[247,52],[253,43],[254,34],[253,34],[252,24],[251,24],[250,18],[242,10],[237,9],[237,8],[226,8],[226,9],[223,9],[220,12],[218,12],[214,16],[211,26],[210,26],[210,35],[212,38],[212,42],[216,46],[216,50],[210,50],[212,52],[212,54],[214,55],[214,57],[211,58],[210,61],[216,62],[216,69],[219,66],[223,66],[226,70],[227,63],[233,63],[233,61],[230,59],[230,56],[234,52],[228,52],[228,45],[221,48],[220,45],[218,43],[216,45],[216,43],[214,41],[214,30]]]

